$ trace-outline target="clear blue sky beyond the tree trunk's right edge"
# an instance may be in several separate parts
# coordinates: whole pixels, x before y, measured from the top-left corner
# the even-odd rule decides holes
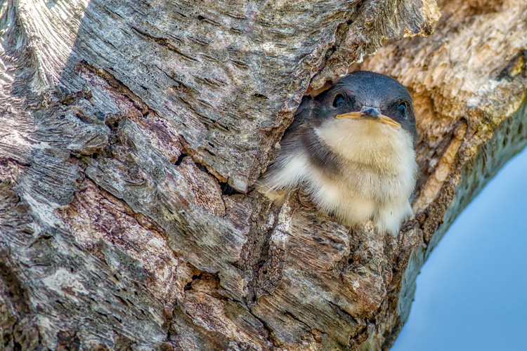
[[[391,351],[527,350],[527,149],[450,227]]]

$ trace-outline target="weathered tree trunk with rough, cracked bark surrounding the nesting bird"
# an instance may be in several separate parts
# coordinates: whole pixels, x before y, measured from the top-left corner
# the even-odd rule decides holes
[[[527,5],[439,5],[431,34],[431,0],[4,0],[0,349],[387,350],[427,253],[527,143]],[[250,186],[301,96],[377,50],[361,68],[415,100],[415,220],[271,208]]]

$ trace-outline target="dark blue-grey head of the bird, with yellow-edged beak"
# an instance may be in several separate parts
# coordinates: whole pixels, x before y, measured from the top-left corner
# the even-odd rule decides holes
[[[358,71],[337,81],[313,99],[315,127],[337,126],[339,121],[372,121],[379,128],[402,128],[415,143],[417,128],[408,90],[384,74]],[[337,120],[337,121],[336,121]],[[327,123],[330,122],[330,123]]]

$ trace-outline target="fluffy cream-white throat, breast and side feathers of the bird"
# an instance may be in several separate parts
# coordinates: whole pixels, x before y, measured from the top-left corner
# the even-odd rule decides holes
[[[396,234],[412,216],[408,199],[417,164],[410,133],[368,120],[327,121],[314,132],[334,154],[338,170],[317,166],[300,140],[292,140],[285,150],[297,152],[278,158],[259,180],[260,190],[269,195],[304,183],[320,210],[349,225],[372,219],[379,230]]]

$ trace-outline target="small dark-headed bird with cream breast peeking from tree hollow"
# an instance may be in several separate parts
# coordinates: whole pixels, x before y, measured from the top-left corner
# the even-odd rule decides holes
[[[344,225],[372,220],[396,236],[413,216],[417,138],[408,89],[384,74],[351,72],[302,99],[256,190],[280,205],[302,186]]]

